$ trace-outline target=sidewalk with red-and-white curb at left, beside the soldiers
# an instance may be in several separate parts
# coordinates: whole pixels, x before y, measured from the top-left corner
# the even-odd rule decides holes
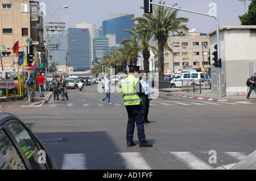
[[[40,104],[46,103],[51,99],[53,92],[44,91],[44,97],[40,97],[39,91],[35,91],[35,98],[33,102],[28,101],[27,98],[18,101],[10,102],[0,102],[1,107],[25,107],[25,106],[39,106]],[[6,99],[6,97],[1,97],[0,99]]]

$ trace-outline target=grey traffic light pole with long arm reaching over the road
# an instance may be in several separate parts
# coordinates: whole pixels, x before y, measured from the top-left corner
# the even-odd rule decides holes
[[[145,1],[145,0],[144,0]],[[186,11],[186,12],[191,12],[194,14],[199,14],[199,15],[204,15],[204,16],[210,16],[212,18],[216,19],[216,35],[217,35],[217,56],[218,59],[220,58],[220,38],[219,38],[219,24],[218,24],[218,15],[210,15],[210,14],[205,14],[205,13],[201,13],[201,12],[196,12],[196,11],[191,11],[191,10],[185,10],[185,9],[180,9],[178,7],[172,7],[172,6],[166,6],[166,5],[161,5],[158,3],[154,3],[151,2],[150,0],[146,0],[148,1],[148,5],[150,7],[150,5],[156,5],[156,6],[163,6],[163,7],[167,7],[167,8],[171,8],[171,9],[175,9],[175,10],[179,10],[179,11]],[[150,10],[151,12],[151,10]],[[218,93],[219,93],[219,97],[221,98],[221,71],[220,68],[218,67]]]

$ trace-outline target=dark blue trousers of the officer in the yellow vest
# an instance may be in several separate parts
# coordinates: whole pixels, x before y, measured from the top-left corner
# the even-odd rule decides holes
[[[126,130],[126,140],[127,142],[133,141],[133,134],[135,123],[137,125],[139,144],[146,143],[146,136],[144,132],[144,110],[139,105],[134,106],[126,106],[126,110],[128,113],[128,123]]]

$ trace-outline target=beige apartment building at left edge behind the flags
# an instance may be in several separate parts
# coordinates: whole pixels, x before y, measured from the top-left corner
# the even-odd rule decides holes
[[[30,0],[0,0],[0,70],[18,68],[18,54],[27,52],[27,39],[31,38],[36,51],[43,51],[43,17],[39,2]],[[13,54],[14,44],[19,41],[19,53]],[[5,50],[3,45],[5,45]],[[40,62],[40,57],[38,57]],[[38,64],[39,66],[39,64]]]

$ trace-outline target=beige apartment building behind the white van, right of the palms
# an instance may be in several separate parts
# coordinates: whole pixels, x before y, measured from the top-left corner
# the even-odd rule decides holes
[[[209,42],[209,37],[200,32],[170,36],[167,43],[173,53],[164,52],[165,73],[173,73],[173,70],[178,73],[185,69],[209,70]]]

